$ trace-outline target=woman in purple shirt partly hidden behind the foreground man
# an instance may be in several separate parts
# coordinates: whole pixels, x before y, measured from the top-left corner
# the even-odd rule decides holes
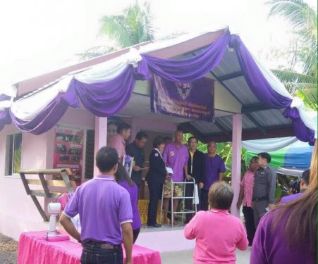
[[[133,243],[137,240],[140,232],[141,220],[138,210],[138,188],[133,180],[128,176],[125,168],[121,163],[118,163],[118,169],[115,173],[116,182],[125,188],[130,195],[131,208],[133,209]]]

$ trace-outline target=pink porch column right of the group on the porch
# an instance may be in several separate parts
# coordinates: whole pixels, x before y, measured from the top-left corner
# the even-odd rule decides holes
[[[240,194],[240,158],[242,151],[242,115],[233,114],[233,132],[232,132],[232,179],[231,185],[234,190],[234,199],[231,206],[232,215],[240,217],[240,211],[236,207],[238,194]]]

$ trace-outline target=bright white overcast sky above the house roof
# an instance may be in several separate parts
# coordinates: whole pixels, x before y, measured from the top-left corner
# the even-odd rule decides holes
[[[5,3],[4,3],[5,2]],[[106,43],[99,18],[120,13],[134,0],[11,0],[0,4],[0,78],[8,85],[78,61],[75,54]],[[142,3],[142,0],[139,0]],[[316,0],[307,0],[316,8]],[[267,18],[264,0],[151,0],[156,37],[218,30],[226,25],[250,51],[283,49],[290,34],[281,18]],[[273,68],[275,61],[262,59]],[[0,88],[1,89],[1,88]]]

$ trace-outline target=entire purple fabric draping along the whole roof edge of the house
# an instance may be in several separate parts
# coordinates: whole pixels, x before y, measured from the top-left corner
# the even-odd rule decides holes
[[[272,89],[240,37],[231,35],[228,30],[216,42],[192,58],[164,59],[141,54],[142,61],[138,63],[137,68],[133,69],[133,66],[129,65],[113,80],[86,84],[73,79],[65,94],[56,96],[56,99],[30,121],[19,120],[10,111],[0,112],[0,130],[10,122],[10,113],[13,122],[20,130],[33,134],[47,132],[60,120],[68,106],[79,107],[80,101],[88,111],[97,116],[114,115],[128,103],[135,80],[148,80],[155,73],[172,82],[192,82],[204,77],[220,63],[227,46],[236,49],[245,80],[257,99],[269,108],[286,108],[283,115],[291,118],[298,139],[313,142],[314,132],[302,122],[298,110],[290,108],[292,100]],[[1,95],[0,101],[1,99],[4,100],[6,97]]]

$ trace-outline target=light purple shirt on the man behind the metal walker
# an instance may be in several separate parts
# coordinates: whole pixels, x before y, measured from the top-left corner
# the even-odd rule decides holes
[[[180,148],[176,146],[175,142],[166,144],[164,153],[162,153],[164,163],[169,168],[172,168],[173,175],[171,179],[174,182],[183,182],[185,176],[183,174],[183,167],[188,165],[189,151],[185,144],[181,144]]]

